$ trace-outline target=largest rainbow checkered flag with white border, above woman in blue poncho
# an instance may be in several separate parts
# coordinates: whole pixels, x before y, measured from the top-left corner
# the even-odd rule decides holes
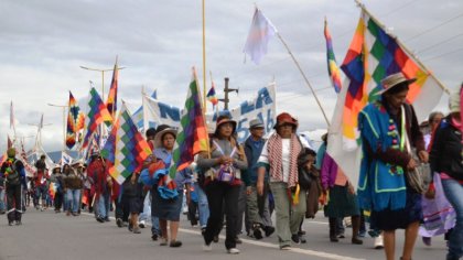
[[[419,65],[395,36],[389,35],[365,10],[362,10],[354,39],[341,66],[347,76],[337,97],[330,127],[327,153],[356,185],[362,151],[357,130],[358,112],[378,98],[380,80],[395,73],[417,78],[410,85],[407,101],[412,102],[418,119],[424,119],[439,102],[443,89],[434,76]]]

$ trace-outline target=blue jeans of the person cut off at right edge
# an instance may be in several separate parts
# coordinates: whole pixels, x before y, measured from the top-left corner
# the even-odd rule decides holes
[[[463,185],[455,180],[442,180],[442,187],[456,214],[455,227],[449,239],[446,259],[460,259],[463,257]]]

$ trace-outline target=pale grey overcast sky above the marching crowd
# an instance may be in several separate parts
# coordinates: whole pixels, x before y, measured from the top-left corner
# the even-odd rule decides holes
[[[254,14],[255,0],[206,0],[206,72],[223,95],[224,77],[239,94],[230,107],[252,98],[274,78],[277,110],[289,111],[301,130],[325,128],[320,109],[281,42],[274,37],[260,65],[243,47]],[[336,95],[326,72],[324,17],[333,37],[337,63],[344,59],[359,18],[354,1],[266,0],[256,2],[272,21],[309,76],[331,118]],[[463,80],[463,1],[364,1],[366,7],[451,89]],[[18,136],[35,134],[44,112],[45,150],[60,150],[68,90],[84,100],[89,80],[101,91],[101,74],[79,68],[120,66],[119,94],[136,108],[141,87],[158,89],[158,97],[183,107],[191,67],[202,83],[202,1],[150,0],[2,0],[0,1],[0,147],[6,147],[10,101],[14,104]],[[111,74],[105,74],[105,95]],[[105,97],[106,98],[106,97]],[[446,97],[438,109],[446,111]],[[120,107],[120,106],[119,106]],[[209,106],[211,107],[211,106]],[[30,149],[33,138],[26,139]]]

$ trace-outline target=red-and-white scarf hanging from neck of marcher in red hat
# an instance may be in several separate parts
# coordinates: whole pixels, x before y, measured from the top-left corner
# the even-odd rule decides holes
[[[280,134],[273,133],[269,138],[268,152],[270,164],[270,176],[273,180],[283,181],[283,159],[282,159],[282,139]],[[302,145],[297,134],[291,134],[290,144],[290,172],[288,177],[288,187],[294,187],[298,184],[298,156]]]

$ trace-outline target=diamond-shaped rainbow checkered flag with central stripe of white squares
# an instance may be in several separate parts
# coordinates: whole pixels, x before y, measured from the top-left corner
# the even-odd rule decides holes
[[[143,161],[151,154],[148,142],[137,130],[130,115],[122,102],[119,117],[101,150],[101,155],[110,165],[109,174],[119,184],[122,184],[131,173],[140,171]]]

